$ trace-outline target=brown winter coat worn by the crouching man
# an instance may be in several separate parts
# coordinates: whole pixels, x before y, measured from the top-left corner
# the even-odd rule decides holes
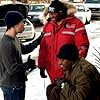
[[[83,58],[69,72],[68,82],[62,88],[60,100],[100,100],[100,74]]]

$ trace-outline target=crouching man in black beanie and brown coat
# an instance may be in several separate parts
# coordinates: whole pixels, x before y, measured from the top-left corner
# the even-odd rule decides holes
[[[100,73],[77,47],[64,44],[57,57],[63,77],[47,86],[47,100],[100,100]]]

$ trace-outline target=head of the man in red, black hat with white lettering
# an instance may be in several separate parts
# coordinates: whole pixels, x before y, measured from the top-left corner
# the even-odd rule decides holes
[[[63,2],[54,0],[48,7],[48,12],[50,18],[52,18],[52,20],[55,20],[57,22],[66,17],[67,7],[63,4]]]

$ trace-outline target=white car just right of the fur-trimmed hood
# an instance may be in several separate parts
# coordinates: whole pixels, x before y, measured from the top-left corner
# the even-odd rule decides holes
[[[75,16],[79,18],[84,24],[89,24],[91,21],[91,10],[84,4],[74,3],[76,6]]]

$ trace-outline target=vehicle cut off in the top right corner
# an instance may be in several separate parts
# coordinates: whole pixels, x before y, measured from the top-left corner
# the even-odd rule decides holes
[[[100,18],[100,0],[85,0],[85,5],[91,10],[92,18]]]

